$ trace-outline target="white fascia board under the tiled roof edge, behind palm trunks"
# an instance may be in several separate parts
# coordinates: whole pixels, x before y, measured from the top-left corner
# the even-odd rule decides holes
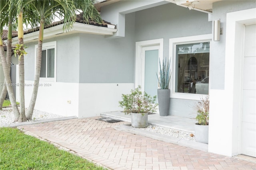
[[[64,35],[69,35],[73,33],[88,33],[96,35],[113,35],[117,29],[108,28],[108,27],[99,27],[95,25],[88,25],[84,23],[74,23],[73,27],[69,31],[63,30],[63,23],[56,25],[54,27],[49,27],[44,29],[44,39],[49,39],[53,37],[59,37]],[[25,34],[23,39],[24,43],[30,43],[33,41],[38,41],[39,31]],[[18,43],[18,37],[12,39],[12,43]]]

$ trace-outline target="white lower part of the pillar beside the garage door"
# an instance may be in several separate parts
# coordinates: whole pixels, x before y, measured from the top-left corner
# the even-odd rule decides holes
[[[208,151],[232,156],[233,101],[225,90],[210,90]],[[239,134],[237,134],[239,135]]]

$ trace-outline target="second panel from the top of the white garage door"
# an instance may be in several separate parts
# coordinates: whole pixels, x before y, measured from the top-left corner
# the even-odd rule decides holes
[[[256,57],[244,57],[244,86],[246,90],[256,90]]]

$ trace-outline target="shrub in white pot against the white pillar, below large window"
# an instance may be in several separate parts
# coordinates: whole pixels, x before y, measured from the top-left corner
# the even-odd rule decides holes
[[[201,98],[195,105],[197,111],[195,124],[195,138],[197,142],[208,144],[208,129],[209,129],[209,96]]]

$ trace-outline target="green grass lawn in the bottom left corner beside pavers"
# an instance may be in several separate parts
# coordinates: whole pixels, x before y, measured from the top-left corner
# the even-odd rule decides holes
[[[104,170],[18,129],[0,128],[1,170]]]

